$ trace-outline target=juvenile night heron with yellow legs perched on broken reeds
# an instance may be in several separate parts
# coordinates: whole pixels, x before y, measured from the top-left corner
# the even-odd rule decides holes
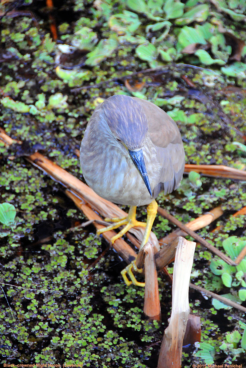
[[[97,234],[125,225],[111,239],[113,243],[132,227],[146,226],[141,249],[156,217],[155,198],[160,191],[175,190],[183,176],[185,152],[174,120],[146,100],[112,96],[98,105],[90,118],[80,161],[86,182],[100,197],[131,206],[126,218],[106,219],[114,224]],[[142,205],[148,205],[147,223],[136,220],[136,206]],[[126,277],[131,268],[122,271],[126,284],[131,283]]]

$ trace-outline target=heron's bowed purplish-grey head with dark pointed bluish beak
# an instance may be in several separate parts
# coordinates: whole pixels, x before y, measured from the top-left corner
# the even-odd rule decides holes
[[[115,95],[105,100],[101,109],[113,137],[128,151],[152,197],[142,151],[149,128],[142,106],[129,96]]]

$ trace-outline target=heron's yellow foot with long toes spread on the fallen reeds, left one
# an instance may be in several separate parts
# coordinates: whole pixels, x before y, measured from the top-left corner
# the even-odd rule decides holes
[[[118,238],[120,238],[122,235],[124,235],[128,230],[130,230],[132,227],[135,226],[146,226],[145,222],[139,222],[136,220],[136,206],[131,206],[128,216],[124,217],[124,218],[114,218],[114,219],[105,219],[106,221],[112,221],[114,222],[114,224],[109,225],[107,227],[104,227],[103,229],[97,230],[97,235],[100,235],[106,231],[111,231],[114,229],[117,229],[117,227],[120,227],[122,225],[125,225],[125,227],[115,236],[113,236],[113,238],[111,238],[111,243],[113,244],[114,241]]]

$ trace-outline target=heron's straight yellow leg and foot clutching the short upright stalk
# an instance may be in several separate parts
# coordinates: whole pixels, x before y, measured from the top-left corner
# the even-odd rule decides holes
[[[156,218],[156,214],[157,214],[157,207],[158,207],[158,205],[157,205],[155,199],[147,207],[147,223],[146,223],[146,229],[145,229],[145,233],[144,233],[144,236],[143,236],[142,244],[140,245],[140,249],[142,249],[143,246],[149,240],[150,231],[152,229],[153,222],[154,222],[154,219]],[[141,273],[143,271],[142,268],[141,269],[138,269],[137,268],[135,261],[132,261],[132,263],[130,265],[126,266],[126,268],[121,271],[121,275],[122,275],[122,277],[123,277],[126,285],[129,286],[129,285],[131,285],[133,283],[136,286],[145,286],[145,283],[144,282],[138,282],[136,280],[135,276],[133,275],[132,268],[135,270],[135,272]],[[131,281],[128,280],[128,277],[126,276],[127,273],[129,275]]]

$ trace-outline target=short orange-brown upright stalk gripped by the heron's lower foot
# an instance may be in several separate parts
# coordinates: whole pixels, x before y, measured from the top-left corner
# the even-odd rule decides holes
[[[150,319],[161,319],[161,306],[158,290],[154,250],[150,243],[144,246],[145,252],[145,304],[143,311]]]

